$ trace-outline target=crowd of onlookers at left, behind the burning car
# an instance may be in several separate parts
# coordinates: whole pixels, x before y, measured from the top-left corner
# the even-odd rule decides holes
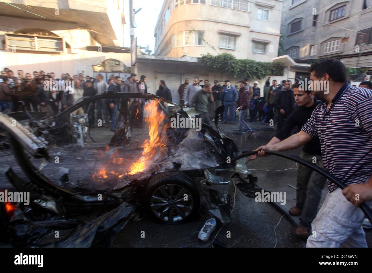
[[[140,80],[136,74],[131,74],[126,81],[121,77],[111,75],[105,81],[102,74],[97,74],[95,78],[84,77],[83,74],[70,76],[62,73],[60,78],[55,78],[54,72],[45,73],[44,71],[34,71],[23,74],[18,70],[18,77],[9,68],[4,68],[0,76],[0,109],[1,112],[9,113],[20,111],[19,101],[25,103],[28,111],[40,111],[46,113],[46,117],[56,115],[71,107],[83,97],[92,97],[106,92],[139,92],[147,93],[146,76],[142,75]],[[164,90],[164,92],[163,92]],[[167,96],[168,88],[165,83],[160,84],[160,94],[171,101],[171,96]],[[170,95],[170,91],[169,91]],[[139,109],[140,126],[143,119],[145,100],[133,99],[130,109]],[[118,117],[118,99],[99,100],[93,106],[79,108],[73,112],[74,115],[84,114],[89,111],[91,127],[94,127],[98,120],[103,121],[103,127],[110,127],[115,131]],[[96,118],[95,118],[96,116]],[[98,123],[98,122],[97,122]]]

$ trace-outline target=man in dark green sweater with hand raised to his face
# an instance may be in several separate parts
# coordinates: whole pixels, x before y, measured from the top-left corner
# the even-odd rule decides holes
[[[211,120],[208,114],[208,102],[214,101],[212,95],[212,87],[208,82],[204,84],[202,90],[196,91],[191,99],[191,104],[195,105],[195,109],[201,111],[200,117],[202,118],[202,123],[207,124],[212,127]]]

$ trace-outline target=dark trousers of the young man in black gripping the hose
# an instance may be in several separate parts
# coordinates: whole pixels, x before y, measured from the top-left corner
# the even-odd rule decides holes
[[[301,151],[301,158],[313,162],[316,157],[316,163],[319,168],[323,168],[323,160],[319,155],[312,155]],[[322,190],[327,183],[323,175],[298,164],[297,185],[296,185],[296,207],[301,209],[300,224],[311,229],[311,222],[315,219],[318,212]]]

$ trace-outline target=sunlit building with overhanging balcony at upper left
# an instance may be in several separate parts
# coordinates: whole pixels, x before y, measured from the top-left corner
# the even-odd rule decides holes
[[[125,8],[123,0],[0,2],[0,67],[125,77]]]

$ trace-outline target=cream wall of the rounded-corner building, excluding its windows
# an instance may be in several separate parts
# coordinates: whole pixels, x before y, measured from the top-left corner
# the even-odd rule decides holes
[[[180,57],[182,55],[200,57],[205,53],[232,53],[239,59],[254,59],[257,61],[271,61],[278,54],[280,37],[280,14],[282,1],[266,0],[256,3],[250,2],[249,11],[233,10],[207,4],[186,4],[171,8],[167,24],[163,27],[164,13],[171,0],[166,0],[160,12],[157,26],[155,27],[156,43],[155,55]],[[260,6],[263,3],[268,6]],[[257,20],[257,10],[265,8],[270,10],[270,20]],[[205,31],[204,39],[208,44],[203,46],[172,45],[174,33],[189,30]],[[236,49],[219,48],[220,33],[218,30],[236,32]],[[252,39],[267,42],[266,53],[254,53]],[[211,48],[214,47],[214,49]]]

